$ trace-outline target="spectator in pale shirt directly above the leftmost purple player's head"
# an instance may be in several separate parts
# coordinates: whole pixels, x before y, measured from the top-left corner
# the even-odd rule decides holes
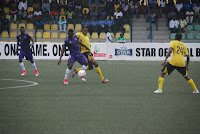
[[[24,18],[26,19],[27,17],[27,3],[26,3],[26,0],[22,0],[19,5],[18,5],[18,15],[19,15],[19,20],[21,22],[21,19]]]

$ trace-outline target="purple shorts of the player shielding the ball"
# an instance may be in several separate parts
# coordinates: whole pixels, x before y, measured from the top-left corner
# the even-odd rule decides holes
[[[87,62],[87,58],[85,57],[85,55],[83,55],[82,53],[77,53],[77,54],[70,54],[69,59],[68,59],[68,64],[69,62],[76,62],[78,61],[81,65],[84,64],[84,62]]]

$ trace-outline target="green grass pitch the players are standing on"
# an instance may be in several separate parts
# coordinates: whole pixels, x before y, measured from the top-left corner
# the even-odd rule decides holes
[[[99,61],[109,83],[95,70],[86,82],[77,76],[62,83],[66,61],[36,61],[40,76],[24,61],[0,60],[0,79],[37,82],[37,86],[0,90],[0,134],[199,134],[200,94],[174,71],[157,89],[161,62]],[[80,67],[75,64],[74,67]],[[189,76],[200,88],[200,63]],[[71,72],[72,73],[72,72]],[[0,80],[0,88],[29,83]]]

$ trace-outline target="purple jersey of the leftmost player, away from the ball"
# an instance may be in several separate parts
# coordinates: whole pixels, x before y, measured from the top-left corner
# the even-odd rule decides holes
[[[30,44],[30,39],[32,37],[29,35],[29,34],[20,34],[17,36],[17,41],[19,42],[20,46],[21,46],[21,50],[23,52],[27,52],[27,51],[30,51],[30,47],[29,47],[29,44]]]

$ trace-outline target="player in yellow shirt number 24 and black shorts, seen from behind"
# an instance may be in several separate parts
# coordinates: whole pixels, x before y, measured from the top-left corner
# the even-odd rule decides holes
[[[188,84],[193,88],[194,94],[199,94],[197,87],[195,86],[193,80],[188,76],[188,64],[189,64],[189,54],[187,50],[187,46],[181,42],[182,34],[177,33],[175,36],[175,40],[170,42],[169,52],[165,60],[162,62],[162,66],[166,63],[167,58],[173,53],[171,60],[164,65],[160,77],[158,79],[158,90],[154,91],[154,93],[162,93],[163,83],[164,83],[164,75],[170,75],[174,69],[176,69],[183,77],[187,80]],[[185,66],[185,60],[183,56],[187,56],[187,64]]]

